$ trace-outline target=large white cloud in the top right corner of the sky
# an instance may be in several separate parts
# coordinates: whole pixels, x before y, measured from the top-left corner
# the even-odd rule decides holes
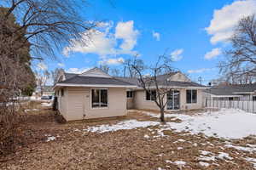
[[[221,9],[214,10],[210,26],[206,28],[207,33],[212,35],[211,42],[225,42],[233,34],[234,26],[245,16],[256,12],[255,0],[239,0],[225,5]]]

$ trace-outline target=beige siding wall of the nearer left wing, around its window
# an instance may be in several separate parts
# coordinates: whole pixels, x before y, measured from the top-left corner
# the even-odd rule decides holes
[[[92,88],[67,88],[67,111],[61,114],[67,121],[126,115],[126,89],[108,89],[108,107],[91,108]],[[106,88],[104,88],[106,89]],[[65,108],[61,105],[61,109]]]

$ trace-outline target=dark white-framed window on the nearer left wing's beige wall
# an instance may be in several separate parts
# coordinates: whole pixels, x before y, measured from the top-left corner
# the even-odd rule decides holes
[[[91,107],[108,107],[108,90],[92,89],[91,90]]]

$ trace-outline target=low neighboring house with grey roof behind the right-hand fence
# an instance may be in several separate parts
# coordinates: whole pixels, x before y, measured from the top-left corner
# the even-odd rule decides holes
[[[256,100],[256,84],[219,85],[204,91],[212,100]]]

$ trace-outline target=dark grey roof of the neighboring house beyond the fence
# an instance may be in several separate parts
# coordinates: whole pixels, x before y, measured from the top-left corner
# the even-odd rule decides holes
[[[256,90],[256,84],[233,84],[233,85],[221,85],[215,86],[205,90],[207,94],[213,95],[238,95],[254,93]]]

